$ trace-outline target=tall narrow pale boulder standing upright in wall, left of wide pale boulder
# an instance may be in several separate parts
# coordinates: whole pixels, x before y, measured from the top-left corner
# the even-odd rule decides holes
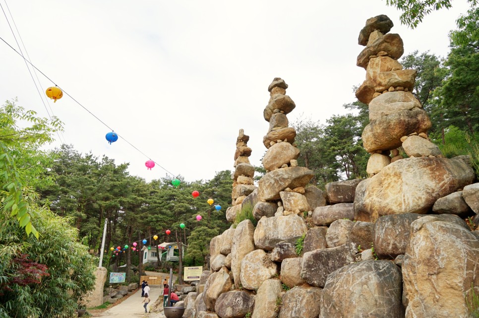
[[[236,288],[240,287],[241,260],[246,254],[254,251],[254,226],[250,220],[241,221],[236,227],[233,245],[231,246],[231,272]]]

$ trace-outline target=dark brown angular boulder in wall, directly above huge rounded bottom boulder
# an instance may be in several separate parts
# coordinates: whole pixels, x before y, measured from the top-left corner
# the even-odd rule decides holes
[[[355,262],[356,245],[347,243],[336,248],[304,253],[301,277],[315,287],[324,287],[326,277],[338,268]]]

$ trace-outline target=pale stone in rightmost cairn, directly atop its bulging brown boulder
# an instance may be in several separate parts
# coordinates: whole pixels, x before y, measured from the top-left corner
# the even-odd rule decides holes
[[[384,93],[369,103],[369,121],[372,122],[383,116],[399,111],[410,111],[415,108],[421,109],[422,106],[411,92],[396,91]]]

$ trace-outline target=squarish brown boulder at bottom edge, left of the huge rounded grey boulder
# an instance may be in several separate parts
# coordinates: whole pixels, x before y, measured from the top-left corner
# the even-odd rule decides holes
[[[321,288],[298,286],[286,292],[282,299],[279,318],[317,318]]]

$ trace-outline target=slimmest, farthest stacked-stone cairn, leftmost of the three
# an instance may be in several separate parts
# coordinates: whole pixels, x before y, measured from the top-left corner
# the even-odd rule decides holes
[[[240,129],[236,139],[235,172],[233,178],[233,191],[231,192],[232,205],[226,210],[226,218],[229,222],[235,222],[236,214],[241,210],[244,198],[256,189],[253,185],[254,167],[249,163],[251,148],[247,143],[249,136]]]

